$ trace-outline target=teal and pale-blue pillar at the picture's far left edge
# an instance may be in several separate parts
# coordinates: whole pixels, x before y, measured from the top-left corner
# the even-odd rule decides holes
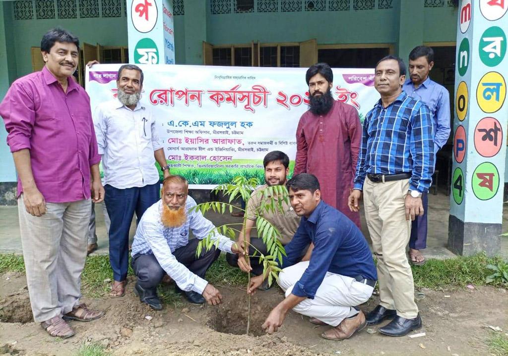
[[[11,83],[16,79],[16,57],[12,36],[13,2],[0,2],[0,100]],[[10,33],[10,35],[7,35]],[[28,54],[27,54],[28,55]],[[0,183],[16,182],[16,169],[9,146],[6,144],[7,131],[0,120]]]

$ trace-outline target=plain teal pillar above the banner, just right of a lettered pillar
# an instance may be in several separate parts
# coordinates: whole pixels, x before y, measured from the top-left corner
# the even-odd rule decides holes
[[[206,42],[208,2],[185,0],[184,35],[185,64],[203,64],[203,41]]]

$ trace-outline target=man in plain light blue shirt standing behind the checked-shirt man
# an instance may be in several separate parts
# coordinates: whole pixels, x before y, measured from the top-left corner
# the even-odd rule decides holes
[[[432,132],[434,132],[434,154],[437,154],[450,136],[450,93],[442,85],[429,78],[434,66],[434,51],[427,46],[415,47],[409,53],[410,78],[402,85],[407,95],[422,100],[432,115]],[[409,238],[409,262],[421,266],[425,257],[420,250],[427,247],[427,193],[422,194],[424,213],[418,216],[411,225]]]

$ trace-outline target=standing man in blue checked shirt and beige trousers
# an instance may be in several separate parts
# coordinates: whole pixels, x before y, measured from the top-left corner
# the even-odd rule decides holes
[[[429,108],[402,91],[405,72],[402,59],[394,56],[376,65],[374,87],[381,99],[363,123],[355,185],[348,200],[350,209],[358,211],[363,190],[380,299],[366,320],[367,325],[377,325],[393,319],[379,328],[389,336],[403,336],[422,326],[405,248],[411,220],[424,212],[422,194],[432,182],[435,157]]]

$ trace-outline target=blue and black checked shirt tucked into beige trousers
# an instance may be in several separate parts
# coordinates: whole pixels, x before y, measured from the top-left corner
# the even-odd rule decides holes
[[[362,190],[367,173],[411,173],[409,190],[428,191],[434,173],[432,117],[428,107],[402,92],[383,108],[379,101],[363,122],[355,189]]]

